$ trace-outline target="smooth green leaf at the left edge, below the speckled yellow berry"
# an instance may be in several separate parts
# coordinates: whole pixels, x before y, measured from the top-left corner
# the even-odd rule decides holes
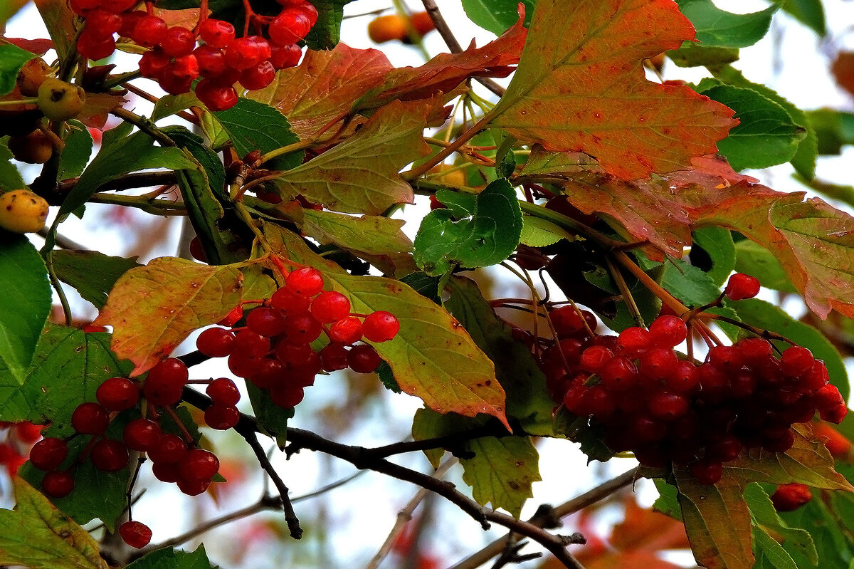
[[[0,364],[22,379],[50,314],[47,268],[30,240],[0,230]]]

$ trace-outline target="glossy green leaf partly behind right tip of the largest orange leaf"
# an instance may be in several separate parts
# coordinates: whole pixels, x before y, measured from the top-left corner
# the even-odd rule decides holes
[[[763,168],[793,159],[806,130],[779,103],[757,91],[731,85],[717,85],[702,91],[735,110],[741,124],[717,144],[721,154],[736,171]]]

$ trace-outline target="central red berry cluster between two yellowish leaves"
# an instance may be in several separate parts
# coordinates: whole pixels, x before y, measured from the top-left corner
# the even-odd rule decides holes
[[[357,342],[363,338],[386,342],[397,335],[400,323],[382,310],[352,314],[347,296],[323,287],[317,269],[292,271],[284,287],[249,311],[246,326],[209,328],[199,335],[196,347],[204,355],[227,356],[232,373],[269,390],[272,401],[282,408],[301,402],[304,389],[314,384],[319,372],[346,367],[375,372],[381,362],[377,351]],[[243,309],[237,307],[220,324],[233,326],[242,317]],[[311,343],[321,334],[330,343],[316,351]]]

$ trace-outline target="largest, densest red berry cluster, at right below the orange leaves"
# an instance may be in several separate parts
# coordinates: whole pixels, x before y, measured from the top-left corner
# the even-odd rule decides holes
[[[786,451],[793,423],[816,411],[839,423],[847,412],[808,349],[793,346],[778,358],[771,343],[753,337],[714,346],[698,365],[674,350],[687,326],[673,315],[617,337],[594,334],[587,311],[568,306],[550,316],[559,340],[541,365],[553,397],[589,417],[609,449],[631,450],[647,466],[689,465],[714,484],[742,449]]]

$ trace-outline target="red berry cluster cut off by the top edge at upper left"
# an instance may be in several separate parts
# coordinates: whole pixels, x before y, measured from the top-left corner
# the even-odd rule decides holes
[[[278,0],[276,16],[250,15],[261,35],[236,38],[227,21],[202,14],[192,30],[168,26],[151,10],[133,10],[138,0],[70,0],[71,9],[85,18],[77,50],[89,59],[102,59],[115,50],[114,34],[150,48],[139,61],[143,77],[155,79],[173,95],[190,92],[196,79],[196,97],[208,109],[231,109],[237,103],[238,81],[249,90],[272,83],[278,69],[294,67],[302,50],[297,42],[317,22],[318,11],[307,0]],[[147,3],[151,6],[151,3]],[[197,40],[201,43],[196,45]]]

